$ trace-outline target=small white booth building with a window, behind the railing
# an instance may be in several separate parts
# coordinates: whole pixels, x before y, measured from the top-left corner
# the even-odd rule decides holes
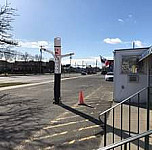
[[[114,101],[120,102],[139,90],[152,86],[152,47],[114,51]],[[146,90],[140,102],[146,101]],[[134,102],[137,101],[135,97]],[[152,101],[152,100],[151,100]]]

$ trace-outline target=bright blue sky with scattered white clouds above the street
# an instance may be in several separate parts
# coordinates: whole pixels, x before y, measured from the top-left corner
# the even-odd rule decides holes
[[[5,0],[0,0],[2,5]],[[113,57],[113,50],[152,44],[151,0],[8,0],[17,8],[14,38],[20,51],[38,54],[38,45],[53,50],[62,39],[62,53],[74,52],[72,63],[94,63],[99,55]],[[48,54],[44,54],[48,58]],[[51,57],[51,55],[49,56]],[[63,62],[68,63],[69,58]],[[80,63],[78,62],[78,63]]]

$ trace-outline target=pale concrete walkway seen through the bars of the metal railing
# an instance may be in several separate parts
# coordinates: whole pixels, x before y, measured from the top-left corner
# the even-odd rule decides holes
[[[113,103],[115,105],[116,103]],[[123,104],[123,121],[122,121],[122,137],[127,138],[129,135],[129,106],[126,104]],[[119,142],[121,140],[121,116],[120,116],[120,106],[115,108],[115,115],[114,115],[114,122],[115,122],[115,134],[114,134],[114,141]],[[147,117],[147,110],[146,108],[140,108],[139,109],[139,133],[146,131],[146,117]],[[136,135],[138,133],[138,107],[131,106],[131,136]],[[113,133],[112,133],[112,127],[113,127],[113,112],[111,111],[107,120],[107,124],[109,125],[109,133],[107,134],[107,145],[112,144],[113,141]],[[150,110],[150,129],[152,129],[152,110]],[[108,130],[108,129],[107,129]],[[152,144],[152,135],[150,136],[150,144]],[[144,149],[144,138],[139,140],[140,149]],[[137,149],[137,142],[131,143],[131,150]],[[101,142],[101,147],[103,147],[103,140]],[[116,148],[116,150],[119,150],[120,148]]]

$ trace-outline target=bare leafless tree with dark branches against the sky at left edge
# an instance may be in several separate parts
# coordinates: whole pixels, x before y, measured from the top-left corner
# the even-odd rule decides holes
[[[0,54],[5,58],[5,74],[7,70],[7,61],[12,59],[15,55],[14,51],[10,49],[12,46],[16,46],[17,42],[12,40],[12,26],[11,23],[14,20],[13,17],[16,10],[10,7],[10,4],[6,3],[4,6],[0,6]]]

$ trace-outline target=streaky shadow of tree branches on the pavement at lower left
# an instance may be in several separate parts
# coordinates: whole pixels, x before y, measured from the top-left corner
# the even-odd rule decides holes
[[[42,128],[43,124],[39,124],[42,110],[35,99],[0,93],[0,150],[13,149]]]

